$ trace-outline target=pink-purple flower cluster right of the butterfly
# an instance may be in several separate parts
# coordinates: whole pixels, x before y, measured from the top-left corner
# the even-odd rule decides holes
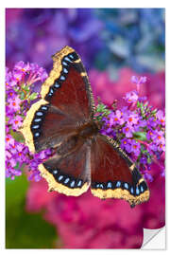
[[[104,104],[98,104],[96,118],[104,122],[101,133],[118,140],[144,177],[152,180],[150,166],[153,161],[159,164],[165,152],[165,117],[161,110],[149,106],[146,97],[140,97],[140,87],[146,78],[133,76],[131,82],[136,83],[137,90],[127,92],[124,97],[127,105],[117,109],[114,104],[112,109],[107,109]]]

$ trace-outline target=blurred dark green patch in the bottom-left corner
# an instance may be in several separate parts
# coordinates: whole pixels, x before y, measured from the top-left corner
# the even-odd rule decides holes
[[[6,182],[6,247],[53,248],[56,229],[45,222],[42,213],[26,212],[25,175]]]

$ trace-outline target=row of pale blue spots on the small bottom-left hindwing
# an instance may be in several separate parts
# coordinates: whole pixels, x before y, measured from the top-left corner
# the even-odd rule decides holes
[[[73,178],[68,177],[67,175],[60,174],[59,170],[55,169],[52,171],[52,174],[54,175],[55,179],[59,181],[59,183],[62,183],[63,185],[66,185],[70,188],[81,188],[83,181],[81,179],[76,180]]]

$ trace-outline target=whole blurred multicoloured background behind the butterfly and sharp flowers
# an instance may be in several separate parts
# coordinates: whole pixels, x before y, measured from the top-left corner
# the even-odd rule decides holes
[[[9,68],[24,61],[49,72],[51,55],[72,46],[95,99],[108,105],[121,104],[135,75],[147,77],[143,95],[164,110],[164,37],[164,9],[6,9]],[[26,175],[7,179],[6,247],[140,248],[143,228],[160,229],[165,222],[161,167],[153,165],[150,173],[150,200],[135,209],[90,192],[76,198],[48,193],[43,180],[29,182]]]

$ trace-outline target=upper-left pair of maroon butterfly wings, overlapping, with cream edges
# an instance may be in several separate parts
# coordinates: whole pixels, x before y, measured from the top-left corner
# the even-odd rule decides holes
[[[31,152],[56,147],[93,118],[94,103],[84,66],[75,50],[65,46],[53,56],[53,69],[42,84],[42,100],[26,115],[21,132]]]

